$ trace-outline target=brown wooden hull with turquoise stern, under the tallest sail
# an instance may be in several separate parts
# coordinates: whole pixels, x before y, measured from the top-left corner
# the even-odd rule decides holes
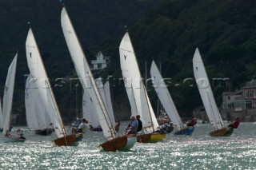
[[[100,144],[105,151],[129,151],[136,143],[136,136],[120,136]]]

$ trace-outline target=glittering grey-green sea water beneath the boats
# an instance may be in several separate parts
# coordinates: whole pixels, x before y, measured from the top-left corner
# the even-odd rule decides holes
[[[212,137],[211,125],[196,125],[192,136],[174,136],[130,152],[103,152],[102,132],[86,132],[78,146],[58,147],[51,136],[23,128],[25,143],[0,141],[0,169],[256,169],[256,124],[242,123],[229,137]],[[70,127],[66,127],[70,129]],[[126,128],[122,124],[119,134]],[[0,137],[1,139],[1,137]]]

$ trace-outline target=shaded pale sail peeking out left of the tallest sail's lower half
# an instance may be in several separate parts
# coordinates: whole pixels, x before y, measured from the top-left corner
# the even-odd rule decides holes
[[[96,109],[87,90],[82,95],[82,116],[86,118],[88,125],[92,125],[94,128],[99,126]]]

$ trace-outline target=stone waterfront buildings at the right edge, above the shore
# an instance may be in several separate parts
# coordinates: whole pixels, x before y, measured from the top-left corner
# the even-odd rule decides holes
[[[222,109],[243,111],[256,108],[256,81],[246,82],[237,92],[222,93]]]

